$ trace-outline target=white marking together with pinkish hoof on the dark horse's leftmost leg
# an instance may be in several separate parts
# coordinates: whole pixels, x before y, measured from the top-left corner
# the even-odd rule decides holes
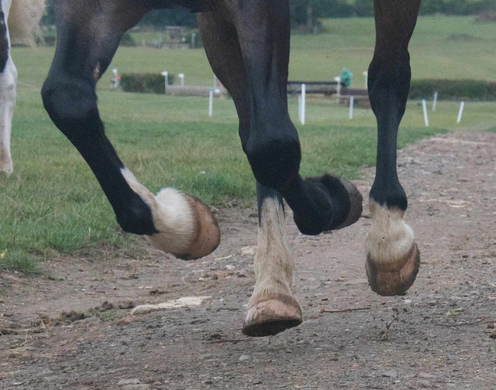
[[[194,260],[213,252],[220,241],[220,230],[210,208],[174,188],[153,194],[127,169],[121,169],[131,189],[151,210],[155,232],[150,243],[184,260]]]

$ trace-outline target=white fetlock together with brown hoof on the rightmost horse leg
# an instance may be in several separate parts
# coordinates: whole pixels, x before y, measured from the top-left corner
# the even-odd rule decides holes
[[[372,226],[365,241],[369,284],[380,295],[404,294],[420,267],[413,230],[403,221],[403,210],[380,206],[372,199],[369,207]]]

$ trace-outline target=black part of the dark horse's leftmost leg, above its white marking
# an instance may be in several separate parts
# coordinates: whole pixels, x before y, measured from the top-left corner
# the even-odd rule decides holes
[[[124,165],[105,136],[95,93],[96,81],[132,24],[106,35],[110,15],[105,17],[88,8],[81,5],[74,9],[62,2],[56,7],[62,22],[57,26],[55,57],[42,89],[43,104],[93,170],[122,228],[130,233],[153,234],[157,230],[150,207],[131,190],[121,173]],[[95,30],[99,22],[103,23]]]

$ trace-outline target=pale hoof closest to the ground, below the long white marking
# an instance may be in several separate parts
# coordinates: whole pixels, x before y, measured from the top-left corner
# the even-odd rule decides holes
[[[243,334],[251,337],[270,336],[303,322],[302,309],[293,297],[274,295],[264,298],[248,309]]]

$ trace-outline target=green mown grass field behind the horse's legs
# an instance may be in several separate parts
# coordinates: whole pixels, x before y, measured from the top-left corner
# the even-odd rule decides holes
[[[423,59],[412,61],[414,77],[495,79],[494,50],[493,57],[488,54],[488,26],[495,29],[496,25],[471,20],[421,19],[412,57],[415,48],[427,47]],[[292,37],[291,78],[326,80],[339,74],[341,67],[360,75],[367,68],[372,56],[372,19],[325,23],[336,27],[328,27],[326,34]],[[448,38],[455,34],[451,29],[458,31],[456,24],[464,26],[461,34],[470,32],[477,39],[453,44]],[[423,32],[423,26],[431,32]],[[415,39],[420,41],[415,43]],[[441,48],[439,42],[446,47]],[[492,42],[494,48],[494,35]],[[460,47],[474,50],[465,55]],[[53,52],[53,48],[12,49],[19,83],[12,125],[14,173],[0,178],[0,266],[27,272],[36,271],[33,260],[58,252],[109,243],[134,256],[142,247],[139,239],[121,231],[92,172],[43,109],[39,91]],[[434,56],[437,65],[431,65],[425,53]],[[435,73],[441,71],[440,63],[446,70],[442,75]],[[183,71],[187,84],[208,85],[213,77],[202,50],[120,48],[111,66],[120,71]],[[164,186],[180,188],[210,205],[254,203],[254,179],[241,150],[231,100],[215,100],[214,115],[208,118],[207,99],[111,92],[110,78],[104,75],[98,86],[102,118],[121,159],[138,180],[154,192]],[[360,83],[363,80],[355,78],[357,87]],[[418,102],[409,102],[398,147],[455,129],[458,107],[458,102],[438,102],[436,111],[430,112],[431,127],[426,128],[422,108]],[[297,123],[297,99],[289,100],[289,110]],[[459,126],[485,128],[494,123],[496,103],[467,102]],[[371,110],[355,110],[350,121],[348,108],[331,99],[309,97],[307,124],[297,127],[303,175],[335,172],[358,178],[361,166],[374,165],[376,136]]]

